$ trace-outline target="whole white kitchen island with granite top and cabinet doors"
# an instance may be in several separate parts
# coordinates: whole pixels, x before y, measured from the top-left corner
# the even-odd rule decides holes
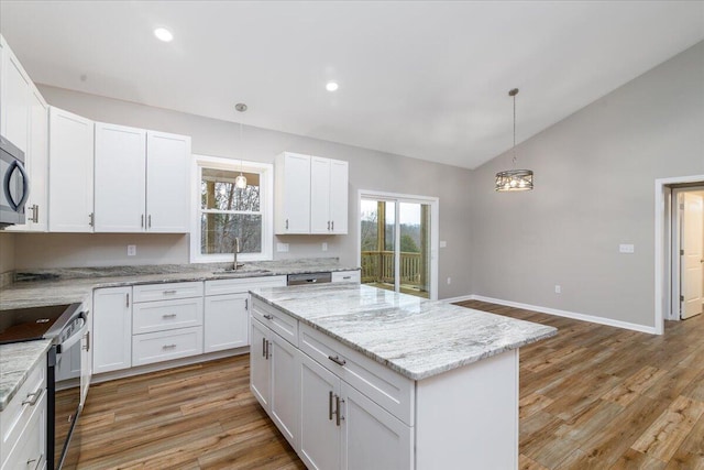
[[[308,468],[515,469],[552,327],[359,284],[252,292],[251,389]]]

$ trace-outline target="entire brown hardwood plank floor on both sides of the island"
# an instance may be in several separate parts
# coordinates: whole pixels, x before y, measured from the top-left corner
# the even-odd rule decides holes
[[[704,469],[704,318],[652,336],[460,305],[559,329],[520,351],[521,469]],[[79,469],[305,469],[248,356],[95,385],[74,438]]]

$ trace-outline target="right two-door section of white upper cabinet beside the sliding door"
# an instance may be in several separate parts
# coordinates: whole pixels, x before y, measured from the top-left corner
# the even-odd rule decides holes
[[[310,161],[310,232],[346,234],[348,162],[312,156]]]

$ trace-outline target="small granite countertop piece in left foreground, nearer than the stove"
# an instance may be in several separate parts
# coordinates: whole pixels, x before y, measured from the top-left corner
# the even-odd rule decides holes
[[[47,339],[0,345],[0,412],[26,381],[32,368],[46,360],[51,345]]]

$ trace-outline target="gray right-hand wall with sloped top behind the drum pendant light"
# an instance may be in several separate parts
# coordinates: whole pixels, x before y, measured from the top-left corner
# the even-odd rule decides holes
[[[535,172],[532,192],[494,192],[509,153],[472,175],[473,293],[653,326],[654,181],[704,174],[704,43],[517,155]],[[620,254],[619,243],[635,253]]]

